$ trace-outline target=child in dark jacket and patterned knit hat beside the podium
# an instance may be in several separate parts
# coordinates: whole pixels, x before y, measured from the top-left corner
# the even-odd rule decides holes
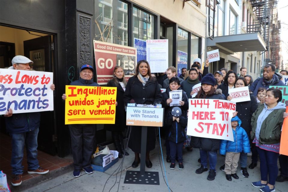
[[[176,153],[178,155],[179,169],[183,170],[183,143],[186,140],[185,127],[187,116],[182,115],[179,107],[173,107],[171,115],[168,115],[167,125],[169,126],[168,140],[170,145],[170,169],[175,169]]]

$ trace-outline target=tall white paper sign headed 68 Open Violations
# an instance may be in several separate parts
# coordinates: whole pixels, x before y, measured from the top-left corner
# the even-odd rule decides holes
[[[168,68],[168,39],[146,40],[147,61],[151,73],[162,73]]]

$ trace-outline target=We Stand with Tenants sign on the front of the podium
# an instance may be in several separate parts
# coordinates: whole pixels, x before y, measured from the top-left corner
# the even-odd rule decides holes
[[[163,127],[163,108],[127,107],[126,125]]]

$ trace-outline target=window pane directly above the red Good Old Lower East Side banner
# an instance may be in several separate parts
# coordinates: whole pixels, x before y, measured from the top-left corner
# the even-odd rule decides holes
[[[120,45],[128,45],[128,4],[119,0],[95,1],[95,37]]]

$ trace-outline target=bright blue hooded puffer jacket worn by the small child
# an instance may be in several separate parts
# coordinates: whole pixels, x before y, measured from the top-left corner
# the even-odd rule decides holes
[[[241,120],[238,116],[235,116],[231,121],[238,121],[236,130],[233,131],[233,141],[221,140],[220,144],[220,154],[225,155],[226,152],[235,152],[235,153],[250,153],[250,141],[246,131],[241,127]]]

